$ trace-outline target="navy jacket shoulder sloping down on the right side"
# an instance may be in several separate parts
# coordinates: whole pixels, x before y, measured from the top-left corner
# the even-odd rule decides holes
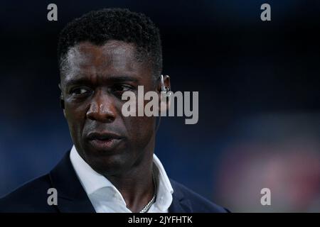
[[[193,213],[226,213],[230,212],[228,209],[214,204],[212,201],[204,198],[200,194],[193,192],[183,184],[180,184],[173,179],[170,179],[172,187],[174,188],[173,196],[183,197],[188,201],[188,206]]]

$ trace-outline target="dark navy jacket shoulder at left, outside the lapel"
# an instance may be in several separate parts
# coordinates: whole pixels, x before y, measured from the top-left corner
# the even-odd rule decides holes
[[[54,212],[48,205],[49,175],[43,175],[23,184],[0,199],[0,213]]]

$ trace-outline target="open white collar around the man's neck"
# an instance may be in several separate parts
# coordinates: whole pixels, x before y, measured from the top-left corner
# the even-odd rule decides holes
[[[161,164],[159,158],[154,154],[153,159],[154,165],[158,170],[157,172],[159,172],[159,174],[156,176],[158,190],[156,194],[156,203],[154,205],[157,206],[161,211],[165,211],[169,209],[169,206],[172,203],[172,194],[174,193],[174,189],[171,186],[169,177],[166,175],[164,166]],[[78,175],[82,187],[85,189],[85,192],[88,196],[99,193],[98,191],[100,189],[107,187],[121,196],[122,201],[125,204],[125,201],[118,189],[114,187],[114,185],[106,177],[93,170],[92,167],[90,167],[90,165],[88,165],[87,162],[82,159],[82,157],[78,154],[75,145],[73,145],[73,148],[71,149],[70,160],[73,164],[75,172]]]

